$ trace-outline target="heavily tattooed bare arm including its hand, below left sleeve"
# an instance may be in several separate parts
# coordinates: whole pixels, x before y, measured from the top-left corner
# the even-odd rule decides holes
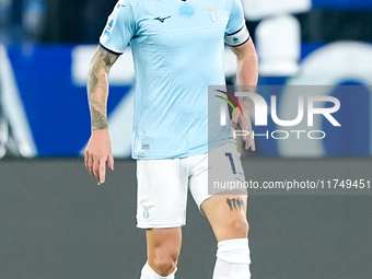
[[[98,46],[88,74],[88,100],[91,111],[92,135],[85,149],[85,167],[98,183],[106,177],[106,161],[114,170],[111,140],[107,129],[108,73],[118,55]]]

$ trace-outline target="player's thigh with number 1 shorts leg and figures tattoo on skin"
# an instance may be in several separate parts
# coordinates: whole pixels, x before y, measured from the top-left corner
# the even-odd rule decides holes
[[[239,187],[245,176],[236,146],[228,143],[211,150],[191,166],[190,190],[217,240],[247,237],[247,191]]]

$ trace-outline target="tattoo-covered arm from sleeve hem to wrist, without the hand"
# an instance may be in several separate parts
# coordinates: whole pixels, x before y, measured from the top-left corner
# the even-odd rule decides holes
[[[117,58],[98,47],[92,59],[86,84],[92,130],[107,128],[108,72]]]

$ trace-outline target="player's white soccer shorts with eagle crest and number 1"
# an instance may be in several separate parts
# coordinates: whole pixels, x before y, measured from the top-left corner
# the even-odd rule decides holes
[[[187,190],[190,190],[201,211],[200,206],[206,199],[226,191],[225,188],[211,189],[211,175],[218,176],[216,179],[219,182],[221,178],[245,181],[240,156],[236,146],[226,143],[210,151],[209,155],[204,153],[182,159],[138,160],[137,226],[152,229],[185,225]],[[246,189],[242,191],[246,195]]]

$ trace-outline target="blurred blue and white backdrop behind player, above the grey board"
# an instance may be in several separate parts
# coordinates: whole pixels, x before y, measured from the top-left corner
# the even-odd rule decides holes
[[[0,156],[81,153],[90,135],[88,67],[114,4],[111,0],[0,0]],[[337,86],[371,84],[372,2],[243,0],[243,5],[259,55],[259,84],[282,85],[281,91],[270,92],[279,103],[282,91],[295,84],[328,85],[329,95],[348,104],[338,116],[346,118],[340,137],[332,143],[326,138],[324,151],[288,153],[278,142],[261,140],[256,154],[369,155],[370,90],[345,94]],[[228,83],[234,84],[235,58],[229,48],[225,73]],[[108,113],[117,158],[130,156],[132,84],[128,48],[111,73]],[[261,93],[267,103],[270,94]],[[345,135],[354,136],[350,140]]]

